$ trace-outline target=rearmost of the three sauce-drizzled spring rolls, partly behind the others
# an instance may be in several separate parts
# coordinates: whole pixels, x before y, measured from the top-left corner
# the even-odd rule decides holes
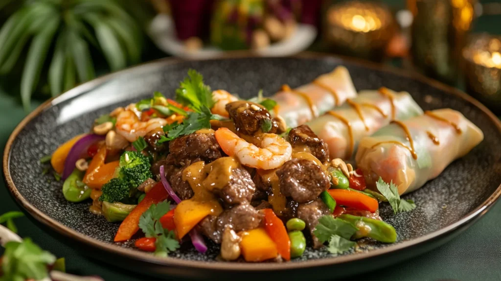
[[[278,104],[275,114],[280,115],[289,127],[294,128],[356,96],[357,91],[350,73],[345,67],[339,66],[296,89],[284,85],[282,91],[271,99]]]

